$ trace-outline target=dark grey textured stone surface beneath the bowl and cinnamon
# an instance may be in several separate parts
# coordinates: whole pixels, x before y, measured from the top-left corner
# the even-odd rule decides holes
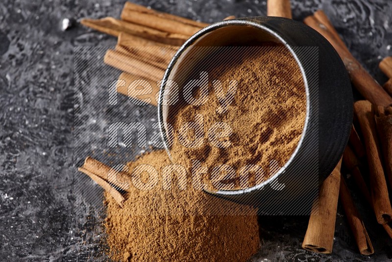
[[[119,71],[105,67],[102,53],[85,56],[78,46],[114,46],[116,39],[75,23],[61,30],[64,18],[119,17],[124,0],[29,0],[0,2],[0,260],[106,261],[101,191],[75,172],[87,155],[107,161],[125,161],[141,149],[104,150],[100,119],[117,113],[94,104],[104,96]],[[138,3],[205,22],[266,14],[265,0],[140,0]],[[386,80],[377,65],[392,55],[392,3],[362,0],[292,1],[294,19],[302,20],[322,8],[349,49],[380,82]],[[80,64],[77,64],[80,63]],[[74,75],[74,66],[86,63],[90,74]],[[74,65],[75,64],[75,65]],[[94,75],[95,68],[104,74]],[[100,71],[99,71],[100,72]],[[74,85],[86,85],[88,96]],[[85,90],[86,90],[85,89]],[[75,103],[74,103],[75,101]],[[75,104],[75,108],[73,105]],[[136,110],[120,98],[117,112],[149,124],[155,108]],[[83,110],[81,110],[81,108]],[[74,112],[75,125],[74,125]],[[81,122],[78,122],[81,121]],[[73,135],[77,143],[73,143]],[[82,137],[82,139],[80,138]],[[349,184],[351,180],[349,179]],[[356,193],[354,191],[354,193]],[[356,202],[361,197],[354,196]],[[362,201],[364,202],[364,201]],[[339,208],[331,256],[301,249],[307,217],[260,217],[262,248],[255,261],[335,261],[392,259],[391,239],[377,225],[371,210],[360,205],[376,254],[358,254]]]

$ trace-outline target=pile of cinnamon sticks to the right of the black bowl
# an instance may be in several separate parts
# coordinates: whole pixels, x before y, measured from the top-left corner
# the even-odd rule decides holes
[[[304,23],[317,30],[331,43],[341,56],[352,84],[366,99],[354,103],[356,121],[343,154],[343,164],[353,177],[364,200],[374,211],[377,222],[392,237],[392,208],[387,184],[388,181],[389,186],[392,186],[391,79],[383,87],[379,85],[352,56],[323,11],[319,10],[305,18]],[[392,77],[391,58],[387,57],[380,63],[380,69],[389,78]],[[363,177],[365,173],[368,173],[368,183]],[[331,174],[333,175],[334,173]],[[320,253],[332,252],[339,195],[360,253],[373,254],[370,238],[352,201],[345,179],[342,176],[340,181],[336,179],[334,183],[328,183],[328,180],[330,178],[320,187],[318,212],[311,215],[303,248]],[[324,191],[331,193],[321,194]]]

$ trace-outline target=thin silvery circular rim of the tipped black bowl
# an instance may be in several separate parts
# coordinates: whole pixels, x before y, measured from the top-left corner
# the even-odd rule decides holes
[[[292,161],[294,160],[294,157],[296,157],[296,155],[298,154],[299,149],[301,148],[302,144],[303,144],[303,140],[304,137],[306,136],[306,132],[307,132],[307,128],[308,128],[308,124],[309,124],[309,115],[310,115],[310,92],[309,92],[309,86],[308,86],[308,79],[306,78],[306,74],[305,74],[305,69],[302,66],[298,56],[296,55],[296,53],[294,52],[293,48],[289,45],[289,43],[284,39],[284,37],[282,37],[281,34],[279,34],[279,32],[276,32],[274,30],[272,30],[271,28],[269,28],[268,26],[265,26],[263,23],[261,23],[262,21],[257,21],[257,19],[260,18],[268,18],[269,20],[281,20],[281,21],[290,21],[291,23],[293,23],[293,20],[291,19],[287,19],[287,18],[282,18],[282,17],[246,17],[246,18],[236,18],[236,19],[231,19],[231,20],[224,20],[224,21],[220,21],[220,22],[216,22],[214,24],[211,24],[209,26],[206,26],[204,28],[202,28],[201,30],[197,31],[193,36],[191,36],[179,49],[178,51],[174,54],[172,60],[170,61],[167,69],[165,70],[165,74],[164,77],[162,79],[160,88],[159,88],[159,99],[158,99],[158,125],[160,128],[160,133],[161,133],[161,137],[162,137],[162,141],[164,143],[165,146],[165,150],[170,158],[170,160],[173,162],[172,160],[172,156],[170,154],[170,150],[169,150],[169,146],[168,146],[168,137],[166,135],[166,129],[164,126],[164,121],[163,121],[163,97],[164,97],[164,87],[166,85],[166,81],[169,79],[169,76],[172,73],[172,69],[173,67],[176,65],[179,57],[187,51],[188,48],[190,48],[192,46],[192,44],[196,43],[196,41],[206,35],[207,33],[210,33],[216,29],[222,28],[222,27],[226,27],[226,26],[250,26],[250,27],[254,27],[257,29],[261,29],[269,34],[271,34],[273,37],[275,37],[280,43],[282,43],[293,55],[295,61],[297,62],[301,74],[302,74],[302,79],[304,81],[304,87],[305,87],[305,92],[306,92],[306,116],[305,116],[305,123],[304,123],[304,127],[301,133],[301,137],[296,145],[296,148],[293,152],[293,154],[291,155],[291,157],[286,161],[286,163],[280,167],[280,169],[271,177],[269,177],[267,180],[264,180],[262,183],[259,183],[257,185],[254,185],[252,187],[248,187],[245,189],[235,189],[235,190],[218,190],[218,191],[211,191],[211,190],[206,190],[204,189],[204,191],[211,193],[211,194],[215,194],[215,195],[221,195],[221,196],[235,196],[235,195],[242,195],[245,193],[250,193],[252,191],[255,190],[260,190],[263,189],[266,185],[269,185],[273,182],[276,182],[276,180],[278,179],[278,177],[283,174],[286,170],[286,168],[292,163]]]

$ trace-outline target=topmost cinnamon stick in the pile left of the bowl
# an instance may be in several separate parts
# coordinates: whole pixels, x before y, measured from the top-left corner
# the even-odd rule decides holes
[[[206,24],[206,23],[197,22],[192,19],[188,19],[188,18],[184,18],[184,17],[180,17],[180,16],[168,14],[168,13],[158,12],[154,9],[148,8],[143,5],[135,4],[132,2],[125,2],[123,12],[126,10],[138,11],[139,13],[144,13],[144,14],[152,14],[152,15],[155,15],[156,17],[164,18],[165,20],[172,20],[172,21],[176,21],[176,22],[181,22],[185,25],[197,26],[200,28],[208,26],[208,24]]]

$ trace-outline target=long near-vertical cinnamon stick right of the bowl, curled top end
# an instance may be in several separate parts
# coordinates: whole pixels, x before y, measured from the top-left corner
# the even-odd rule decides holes
[[[392,220],[392,208],[381,164],[382,155],[378,147],[379,143],[374,112],[372,110],[372,105],[368,101],[358,101],[354,103],[354,111],[358,117],[365,141],[370,171],[370,194],[377,222],[385,224]]]

